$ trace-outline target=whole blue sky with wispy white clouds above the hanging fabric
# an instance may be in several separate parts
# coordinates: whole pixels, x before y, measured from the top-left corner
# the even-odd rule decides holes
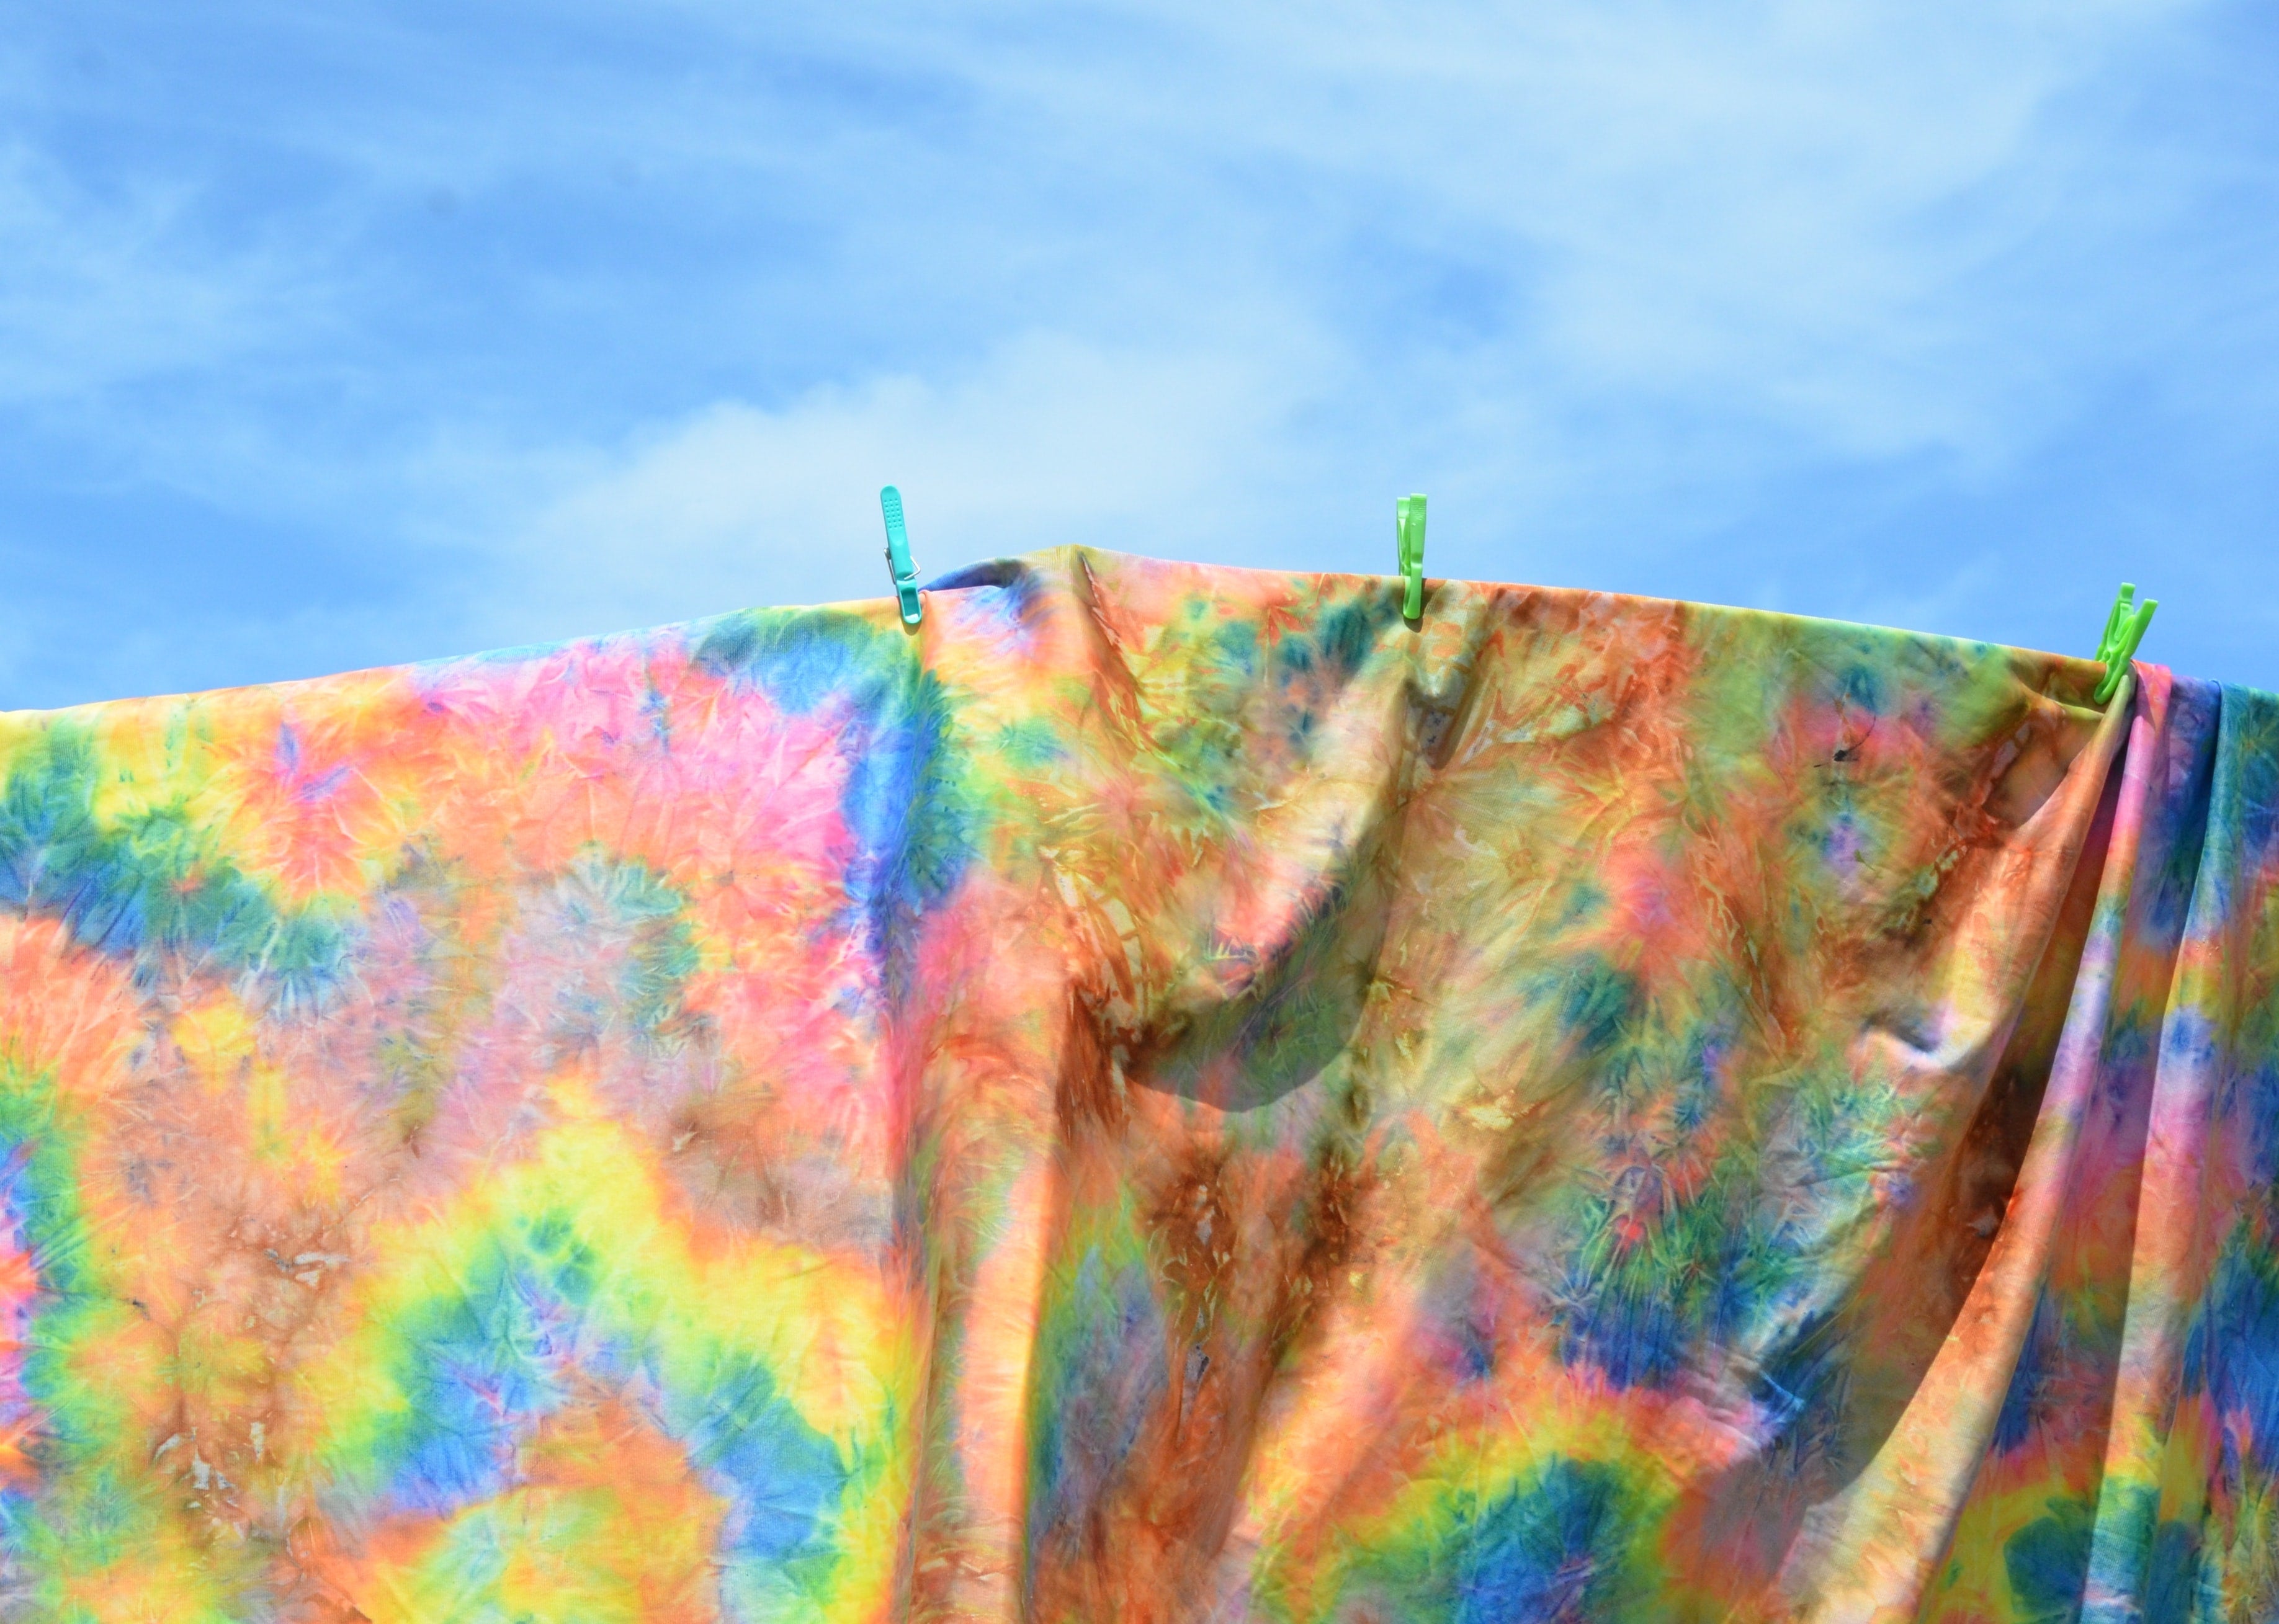
[[[1094,542],[2279,688],[2249,5],[11,7],[0,706]]]

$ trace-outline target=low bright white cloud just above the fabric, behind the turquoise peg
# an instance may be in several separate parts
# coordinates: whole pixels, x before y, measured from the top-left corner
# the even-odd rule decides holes
[[[925,574],[1062,542],[1178,551],[1181,515],[1196,535],[1249,528],[1263,515],[1244,492],[1279,483],[1260,458],[1279,456],[1304,392],[1288,358],[1263,362],[1030,333],[946,380],[818,387],[779,410],[720,401],[526,478],[554,490],[495,517],[504,569],[485,631],[880,597],[882,483],[905,492]],[[440,478],[497,467],[476,458]]]

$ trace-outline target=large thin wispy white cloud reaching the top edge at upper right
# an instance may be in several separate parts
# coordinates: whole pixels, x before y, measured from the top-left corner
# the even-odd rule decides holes
[[[1992,278],[2126,251],[2067,214],[2140,173],[2104,162],[2115,132],[2069,98],[2181,11],[1190,5],[1121,9],[1165,41],[1165,73],[1039,46],[1044,25],[1023,50],[941,20],[916,50],[1089,162],[1274,162],[1345,232],[1506,266],[1520,314],[1488,348],[1531,362],[1541,396],[1712,403],[1835,456],[1999,458],[2067,405],[2053,339],[2056,369],[2094,367],[2117,333],[2104,310],[2060,330]],[[1260,191],[1231,212],[1274,210]]]

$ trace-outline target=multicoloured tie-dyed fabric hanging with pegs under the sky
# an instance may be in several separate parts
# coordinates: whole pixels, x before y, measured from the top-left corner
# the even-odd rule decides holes
[[[0,717],[0,1617],[2268,1619],[2279,699],[1057,551]]]

